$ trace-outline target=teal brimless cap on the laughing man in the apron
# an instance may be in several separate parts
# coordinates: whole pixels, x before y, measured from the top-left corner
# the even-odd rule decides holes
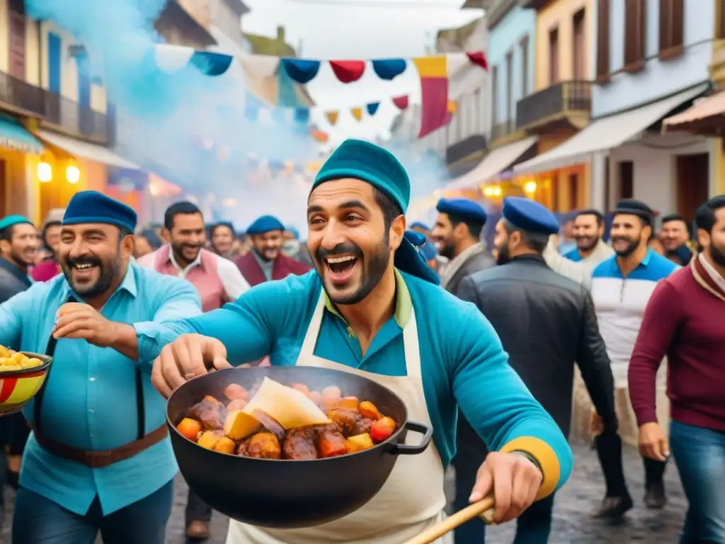
[[[405,213],[410,203],[410,178],[391,152],[362,140],[345,140],[322,165],[312,191],[324,183],[341,178],[368,182],[383,191]]]

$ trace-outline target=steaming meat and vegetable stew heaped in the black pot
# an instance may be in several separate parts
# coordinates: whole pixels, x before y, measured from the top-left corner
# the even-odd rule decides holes
[[[189,408],[179,434],[218,453],[310,461],[368,450],[397,429],[376,405],[339,387],[313,391],[265,377],[256,391],[230,384],[224,395],[226,404],[207,395]]]

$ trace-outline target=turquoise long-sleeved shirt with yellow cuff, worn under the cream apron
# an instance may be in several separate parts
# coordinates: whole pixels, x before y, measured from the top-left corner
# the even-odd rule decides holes
[[[545,478],[544,465],[553,455],[558,468],[550,467],[548,476],[558,474],[555,486],[565,482],[573,463],[571,449],[509,366],[508,355],[489,321],[475,305],[444,289],[405,273],[396,274],[395,314],[378,331],[367,353],[362,354],[352,329],[328,301],[315,355],[363,371],[405,376],[402,326],[414,308],[423,389],[444,466],[455,454],[460,405],[489,448],[506,450],[514,444],[508,450],[531,453],[542,464]],[[269,354],[273,365],[294,365],[321,289],[316,271],[288,276],[252,288],[224,308],[167,326],[176,334],[199,333],[220,339],[233,364]]]

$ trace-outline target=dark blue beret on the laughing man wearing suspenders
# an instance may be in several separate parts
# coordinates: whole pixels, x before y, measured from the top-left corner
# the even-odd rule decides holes
[[[106,223],[133,232],[136,228],[136,212],[132,207],[99,191],[80,191],[68,202],[63,215],[63,224],[81,223]]]

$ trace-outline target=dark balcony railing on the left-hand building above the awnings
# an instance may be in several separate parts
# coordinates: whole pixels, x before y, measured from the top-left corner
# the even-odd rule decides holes
[[[0,72],[0,102],[19,110],[20,113],[54,125],[72,136],[99,143],[107,143],[109,140],[110,127],[107,116],[103,113],[4,72]]]

